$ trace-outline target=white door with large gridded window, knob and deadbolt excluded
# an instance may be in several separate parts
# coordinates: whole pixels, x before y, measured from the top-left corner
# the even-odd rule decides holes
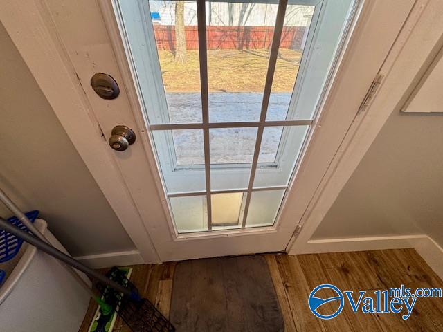
[[[161,261],[286,250],[413,2],[46,1]]]

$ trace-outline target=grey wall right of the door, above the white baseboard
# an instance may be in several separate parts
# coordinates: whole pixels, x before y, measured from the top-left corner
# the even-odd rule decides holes
[[[443,116],[396,112],[313,238],[423,233],[443,245]]]

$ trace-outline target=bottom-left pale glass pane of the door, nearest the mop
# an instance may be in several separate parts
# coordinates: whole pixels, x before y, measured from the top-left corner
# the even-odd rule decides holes
[[[208,230],[206,196],[171,197],[169,201],[179,233]]]

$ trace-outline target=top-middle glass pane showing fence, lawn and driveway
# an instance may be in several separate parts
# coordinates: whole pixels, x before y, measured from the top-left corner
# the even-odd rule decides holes
[[[210,122],[260,118],[277,4],[208,2]]]

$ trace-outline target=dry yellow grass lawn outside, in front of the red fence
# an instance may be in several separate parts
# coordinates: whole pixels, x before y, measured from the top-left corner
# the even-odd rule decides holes
[[[209,92],[262,92],[269,50],[208,50]],[[167,92],[199,92],[199,53],[188,50],[187,62],[174,61],[168,50],[159,52]],[[273,92],[291,92],[301,52],[282,49],[273,80]]]

